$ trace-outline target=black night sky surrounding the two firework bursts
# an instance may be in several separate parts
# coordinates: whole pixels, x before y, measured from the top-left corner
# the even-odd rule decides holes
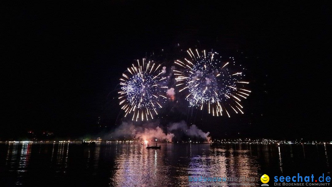
[[[172,62],[189,47],[238,57],[252,95],[242,116],[171,110],[162,124],[185,120],[220,138],[329,139],[331,6],[278,3],[2,1],[0,140],[108,132],[121,123],[113,90],[133,59]]]

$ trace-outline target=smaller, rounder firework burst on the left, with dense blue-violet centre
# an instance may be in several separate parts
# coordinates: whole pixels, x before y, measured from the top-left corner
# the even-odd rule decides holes
[[[143,58],[141,62],[137,60],[137,67],[132,64],[122,74],[122,87],[118,93],[124,117],[130,115],[132,120],[144,121],[158,115],[157,110],[167,99],[164,95],[168,88],[165,86],[167,77],[162,76],[166,72],[165,67],[160,66]]]

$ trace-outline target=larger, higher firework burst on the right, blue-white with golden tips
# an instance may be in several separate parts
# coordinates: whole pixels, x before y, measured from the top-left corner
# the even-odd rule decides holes
[[[246,99],[251,91],[244,87],[249,84],[243,80],[244,73],[228,68],[234,66],[234,57],[221,62],[217,52],[204,50],[200,54],[197,49],[194,52],[189,49],[187,52],[190,58],[174,62],[179,68],[186,69],[173,71],[179,92],[187,92],[185,95],[189,105],[199,107],[200,110],[207,108],[213,116],[226,114],[230,117],[232,111],[243,114],[239,102]]]

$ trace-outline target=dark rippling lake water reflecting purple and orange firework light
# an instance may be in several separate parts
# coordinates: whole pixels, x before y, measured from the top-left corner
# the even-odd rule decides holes
[[[165,143],[160,150],[115,142],[0,144],[0,186],[188,186],[188,172],[256,177],[256,186],[268,174],[273,186],[276,175],[331,176],[331,150],[308,144]]]

